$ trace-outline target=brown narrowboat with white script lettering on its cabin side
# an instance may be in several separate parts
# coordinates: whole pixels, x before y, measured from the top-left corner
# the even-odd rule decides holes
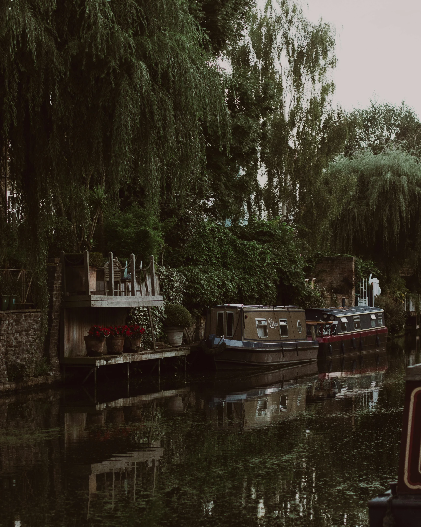
[[[279,367],[317,359],[304,309],[224,304],[208,310],[202,349],[217,369]]]

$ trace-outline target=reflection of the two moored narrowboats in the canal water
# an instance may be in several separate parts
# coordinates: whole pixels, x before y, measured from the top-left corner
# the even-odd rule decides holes
[[[386,349],[380,349],[242,379],[219,379],[209,401],[209,418],[216,428],[237,432],[297,416],[306,404],[327,398],[352,397],[373,406],[386,370]]]

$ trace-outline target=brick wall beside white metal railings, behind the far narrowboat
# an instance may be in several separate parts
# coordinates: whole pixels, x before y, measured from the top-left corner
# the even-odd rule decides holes
[[[316,285],[326,289],[326,307],[354,306],[355,298],[355,258],[324,258],[316,265]]]

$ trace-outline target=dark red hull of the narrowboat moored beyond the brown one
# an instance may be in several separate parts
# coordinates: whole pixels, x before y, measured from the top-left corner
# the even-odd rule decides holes
[[[373,353],[385,348],[387,328],[363,329],[346,335],[319,337],[317,340],[319,343],[318,359]]]

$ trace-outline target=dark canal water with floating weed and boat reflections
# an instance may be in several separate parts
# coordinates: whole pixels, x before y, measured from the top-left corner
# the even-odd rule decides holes
[[[276,372],[0,398],[0,526],[366,526],[419,337]]]

